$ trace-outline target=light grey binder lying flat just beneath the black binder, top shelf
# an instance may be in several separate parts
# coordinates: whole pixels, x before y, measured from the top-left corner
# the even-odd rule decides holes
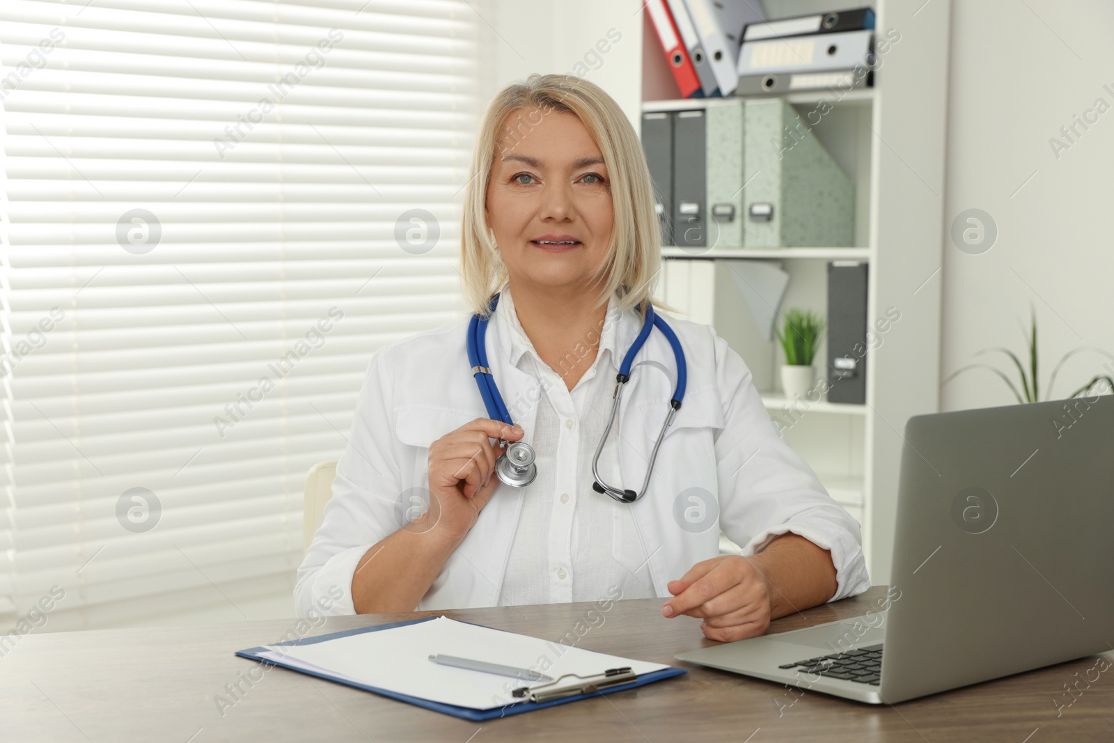
[[[869,68],[873,38],[874,32],[866,29],[745,41],[739,52],[739,77]]]

